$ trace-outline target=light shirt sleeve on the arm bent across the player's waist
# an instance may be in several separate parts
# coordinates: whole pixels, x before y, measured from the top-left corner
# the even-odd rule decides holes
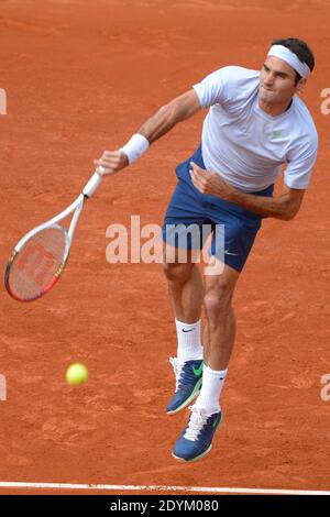
[[[287,157],[287,167],[284,172],[284,183],[289,188],[305,189],[310,183],[312,167],[318,151],[318,135],[308,139],[299,148],[293,148]]]

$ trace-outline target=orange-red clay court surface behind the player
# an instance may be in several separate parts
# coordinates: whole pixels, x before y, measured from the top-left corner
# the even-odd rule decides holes
[[[175,166],[197,146],[206,112],[103,182],[50,295],[19,304],[2,287],[1,494],[89,492],[18,483],[107,484],[117,493],[128,486],[330,491],[330,400],[320,395],[330,373],[330,116],[321,112],[321,91],[330,88],[330,7],[273,3],[2,0],[1,271],[28,230],[79,194],[103,150],[121,146],[210,72],[233,64],[258,69],[275,37],[300,37],[315,52],[302,99],[320,147],[298,216],[264,221],[239,280],[224,421],[200,462],[180,464],[170,455],[187,413],[165,414],[176,334],[161,266],[109,264],[106,230],[130,228],[131,215],[142,226],[162,224]],[[75,361],[89,369],[84,386],[65,382]]]

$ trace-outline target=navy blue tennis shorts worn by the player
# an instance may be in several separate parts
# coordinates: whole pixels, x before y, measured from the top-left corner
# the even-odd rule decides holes
[[[183,248],[185,242],[188,250],[201,250],[209,230],[212,232],[209,254],[241,272],[263,217],[219,197],[199,193],[190,178],[190,162],[206,168],[200,146],[189,160],[176,167],[178,184],[166,210],[163,240],[177,248]],[[272,197],[273,189],[274,185],[271,185],[252,194]],[[179,240],[179,230],[187,228],[193,230],[184,241]]]

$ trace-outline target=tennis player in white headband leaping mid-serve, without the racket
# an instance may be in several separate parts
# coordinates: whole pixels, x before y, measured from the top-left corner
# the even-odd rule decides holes
[[[202,282],[200,267],[191,260],[191,239],[186,262],[170,263],[164,255],[177,331],[177,356],[170,359],[176,389],[168,415],[197,397],[174,446],[178,460],[195,461],[208,453],[221,421],[220,394],[235,338],[232,298],[262,219],[292,220],[309,185],[318,134],[298,95],[314,67],[312,52],[304,41],[275,40],[261,70],[226,66],[213,72],[163,106],[123,147],[106,151],[95,161],[105,174],[117,173],[178,122],[208,109],[201,144],[176,168],[178,184],[164,221],[165,241],[170,224],[224,224],[222,255],[213,238],[209,258],[215,263],[222,256],[221,274],[205,275]],[[282,193],[273,197],[284,164]],[[202,306],[207,323],[201,341]]]

